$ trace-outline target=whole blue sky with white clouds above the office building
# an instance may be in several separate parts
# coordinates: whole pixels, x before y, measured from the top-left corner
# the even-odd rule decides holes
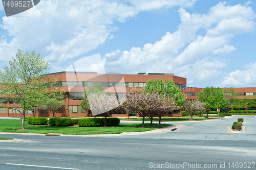
[[[18,49],[40,52],[52,72],[100,54],[105,72],[174,73],[194,87],[256,87],[255,10],[253,1],[234,0],[42,0],[6,17],[1,4],[0,68]],[[102,63],[84,71],[100,72]]]

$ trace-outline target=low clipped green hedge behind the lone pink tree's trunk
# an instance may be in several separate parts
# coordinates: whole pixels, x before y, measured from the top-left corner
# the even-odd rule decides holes
[[[106,118],[106,126],[117,126],[120,123],[120,119],[117,117]],[[99,127],[104,126],[105,118],[80,118],[78,122],[79,127]]]

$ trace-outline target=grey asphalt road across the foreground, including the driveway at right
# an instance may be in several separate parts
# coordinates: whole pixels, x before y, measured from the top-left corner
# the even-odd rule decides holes
[[[184,128],[151,135],[1,134],[17,140],[0,142],[0,169],[160,169],[157,166],[167,168],[170,163],[176,166],[172,169],[247,169],[248,162],[256,162],[256,118],[243,117],[244,134],[227,133],[237,118],[183,122]],[[256,167],[252,165],[250,169]]]

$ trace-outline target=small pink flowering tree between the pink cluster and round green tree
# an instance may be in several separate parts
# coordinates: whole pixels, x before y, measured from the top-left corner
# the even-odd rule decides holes
[[[191,119],[196,111],[204,111],[206,104],[197,100],[187,100],[183,104],[183,111],[186,111],[191,114]]]

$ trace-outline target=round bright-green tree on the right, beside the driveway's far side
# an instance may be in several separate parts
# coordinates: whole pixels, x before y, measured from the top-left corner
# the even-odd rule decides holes
[[[208,118],[208,113],[210,109],[224,108],[227,104],[227,99],[225,99],[224,93],[220,87],[206,87],[203,91],[198,94],[198,100],[206,103],[206,118]]]

